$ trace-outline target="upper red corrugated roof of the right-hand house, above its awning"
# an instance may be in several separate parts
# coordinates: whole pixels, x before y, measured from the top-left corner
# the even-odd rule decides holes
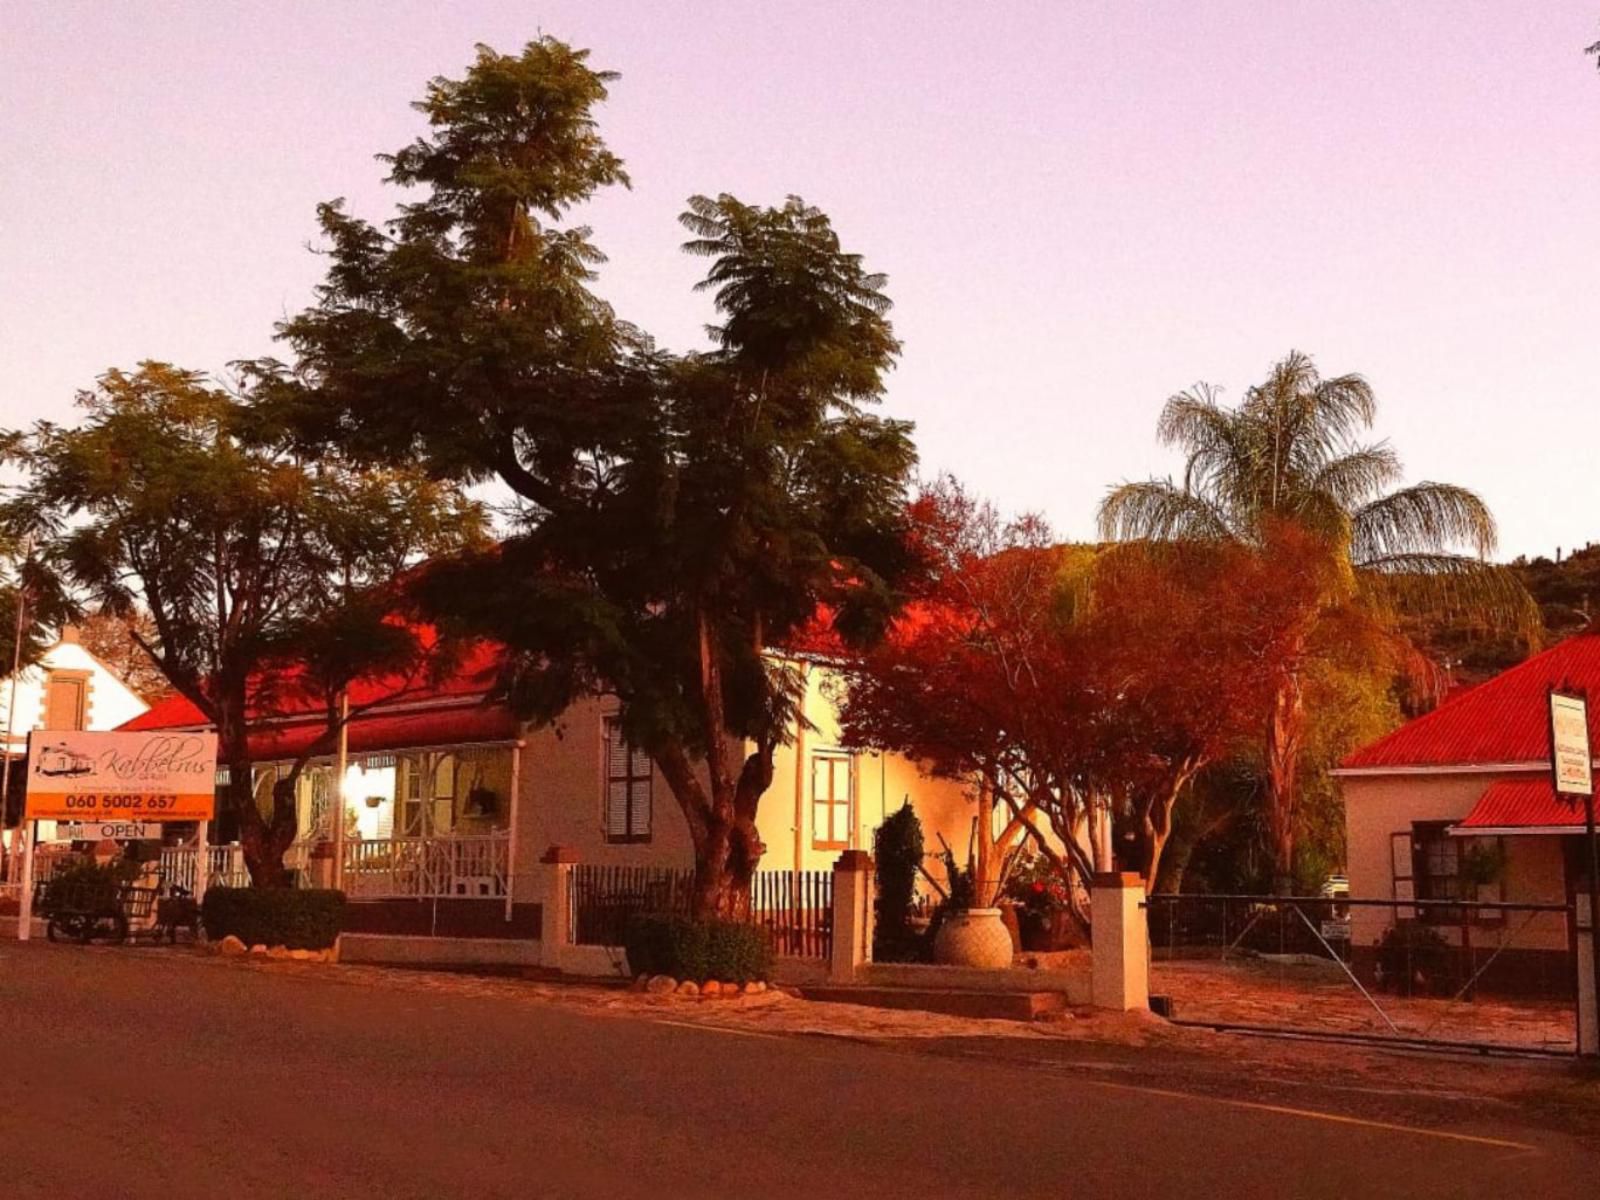
[[[1600,634],[1582,634],[1402,725],[1352,754],[1344,766],[1547,763],[1552,686],[1590,694],[1589,736],[1600,747]]]

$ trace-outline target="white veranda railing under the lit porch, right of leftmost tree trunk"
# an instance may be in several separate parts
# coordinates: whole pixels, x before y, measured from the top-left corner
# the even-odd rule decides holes
[[[504,899],[510,835],[355,838],[344,843],[352,899]]]

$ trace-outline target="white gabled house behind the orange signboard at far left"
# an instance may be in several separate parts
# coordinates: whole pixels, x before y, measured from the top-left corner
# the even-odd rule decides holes
[[[56,645],[18,672],[14,690],[10,677],[0,680],[0,747],[19,763],[27,755],[27,734],[35,730],[115,730],[147,707],[115,670],[78,642],[78,630],[67,626]],[[13,770],[11,782],[19,786],[21,770]],[[38,826],[40,840],[53,842],[56,822],[40,821]]]

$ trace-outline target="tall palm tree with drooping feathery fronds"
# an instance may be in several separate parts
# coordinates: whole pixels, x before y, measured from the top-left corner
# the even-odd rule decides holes
[[[1387,442],[1360,440],[1376,411],[1362,376],[1323,379],[1299,352],[1235,408],[1202,384],[1171,397],[1157,426],[1160,440],[1186,454],[1182,483],[1122,483],[1099,510],[1101,534],[1110,541],[1235,542],[1270,555],[1278,531],[1294,530],[1334,557],[1342,595],[1301,614],[1288,634],[1294,653],[1269,686],[1267,827],[1280,893],[1291,886],[1304,677],[1322,616],[1349,602],[1390,626],[1386,618],[1397,611],[1450,610],[1536,630],[1526,590],[1486,560],[1494,518],[1475,493],[1451,483],[1390,491],[1402,475],[1398,456]]]

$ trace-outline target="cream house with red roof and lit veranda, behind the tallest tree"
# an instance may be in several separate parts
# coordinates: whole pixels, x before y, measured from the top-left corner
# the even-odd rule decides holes
[[[693,864],[677,800],[648,755],[619,738],[614,698],[587,698],[554,725],[530,726],[494,699],[499,656],[483,643],[448,678],[387,698],[381,683],[352,688],[357,715],[347,726],[344,776],[347,930],[536,938],[539,859],[552,845],[594,866]],[[870,850],[874,830],[907,798],[930,846],[944,834],[963,851],[974,813],[968,789],[896,755],[842,747],[826,694],[827,661],[808,658],[800,670],[803,722],[778,750],[773,786],[758,810],[762,870],[827,870],[843,850]],[[194,704],[173,696],[125,728],[205,726]],[[323,734],[312,701],[280,698],[274,715],[254,718],[258,795],[266,800],[278,773]],[[331,838],[334,771],[333,754],[318,754],[296,784],[301,837],[288,856],[291,867],[310,870],[318,843]],[[214,838],[227,837],[224,818],[214,822]],[[213,875],[237,877],[237,850],[213,853],[229,856],[222,870],[213,861]]]

